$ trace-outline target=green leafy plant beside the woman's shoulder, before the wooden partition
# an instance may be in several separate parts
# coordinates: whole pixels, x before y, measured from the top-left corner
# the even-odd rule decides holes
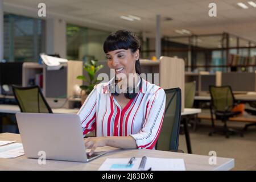
[[[95,78],[96,73],[103,68],[102,64],[97,65],[98,60],[90,60],[89,62],[84,63],[83,69],[87,72],[88,78],[84,75],[77,76],[77,79],[85,81],[88,85],[81,85],[81,103],[84,104],[86,97],[92,92],[94,85],[97,84],[98,80]]]

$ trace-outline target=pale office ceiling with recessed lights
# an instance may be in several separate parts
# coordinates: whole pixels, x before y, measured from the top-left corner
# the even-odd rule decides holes
[[[37,16],[40,2],[46,3],[47,18],[57,17],[86,27],[143,31],[146,36],[154,36],[159,14],[164,36],[179,36],[175,30],[180,29],[193,34],[225,31],[256,42],[256,8],[241,9],[236,3],[247,2],[243,0],[3,0],[3,10]],[[210,2],[217,5],[217,17],[208,15]],[[136,15],[141,20],[130,22],[119,18],[121,15]],[[172,20],[165,21],[167,17]]]

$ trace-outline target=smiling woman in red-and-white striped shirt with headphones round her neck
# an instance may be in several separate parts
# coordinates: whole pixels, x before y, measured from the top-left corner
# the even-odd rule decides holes
[[[104,42],[108,67],[114,69],[115,78],[95,86],[77,113],[84,135],[96,130],[97,137],[84,140],[85,146],[91,148],[89,155],[103,146],[155,147],[164,117],[166,95],[162,88],[139,77],[140,49],[139,39],[129,31],[114,32]],[[130,84],[131,76],[134,85]],[[119,88],[125,82],[138,93],[127,94],[127,87]],[[114,93],[112,85],[116,89]]]

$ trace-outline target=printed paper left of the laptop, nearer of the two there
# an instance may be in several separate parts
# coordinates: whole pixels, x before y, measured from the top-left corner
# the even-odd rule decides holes
[[[24,155],[22,143],[13,143],[0,147],[0,158],[16,158]]]

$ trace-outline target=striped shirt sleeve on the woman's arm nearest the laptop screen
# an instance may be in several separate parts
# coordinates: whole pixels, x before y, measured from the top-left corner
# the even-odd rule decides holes
[[[77,113],[80,117],[84,137],[96,127],[96,97],[97,89],[96,86],[94,86],[94,89],[90,92],[89,96],[86,98],[84,104]]]

